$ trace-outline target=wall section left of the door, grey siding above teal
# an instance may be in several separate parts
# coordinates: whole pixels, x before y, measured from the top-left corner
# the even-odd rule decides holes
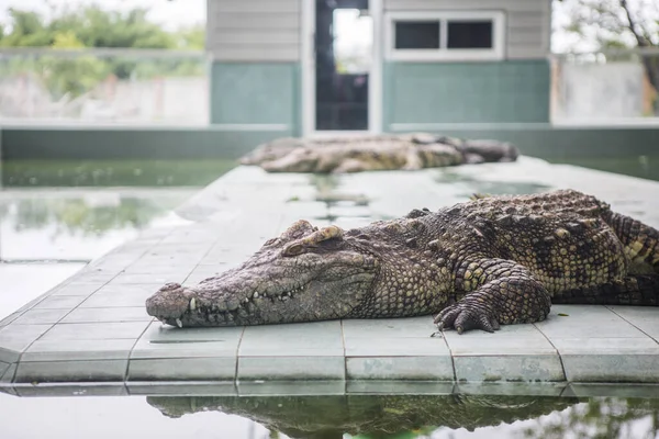
[[[208,0],[213,124],[300,134],[302,0]]]

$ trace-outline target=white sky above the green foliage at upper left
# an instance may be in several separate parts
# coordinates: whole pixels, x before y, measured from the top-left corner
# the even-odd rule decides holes
[[[205,22],[206,0],[0,0],[0,22],[9,22],[8,9],[18,8],[47,13],[48,3],[71,8],[86,4],[101,4],[109,10],[130,10],[137,7],[149,9],[152,21],[172,30]]]

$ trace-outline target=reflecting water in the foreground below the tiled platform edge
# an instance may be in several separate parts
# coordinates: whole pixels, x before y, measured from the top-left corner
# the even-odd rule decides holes
[[[655,438],[658,409],[659,399],[630,397],[0,393],[0,432],[3,438]]]

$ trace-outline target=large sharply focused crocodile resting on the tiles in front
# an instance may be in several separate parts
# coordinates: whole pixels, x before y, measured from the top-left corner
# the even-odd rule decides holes
[[[659,232],[574,190],[473,196],[344,230],[297,221],[241,266],[167,283],[146,311],[168,325],[235,326],[435,315],[494,331],[552,303],[659,303]]]

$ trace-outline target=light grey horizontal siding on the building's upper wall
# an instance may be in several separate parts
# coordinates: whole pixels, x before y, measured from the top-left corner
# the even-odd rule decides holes
[[[302,1],[208,0],[206,48],[212,58],[299,61]],[[550,0],[383,0],[386,12],[503,10],[510,59],[538,58],[549,52],[550,5]]]

